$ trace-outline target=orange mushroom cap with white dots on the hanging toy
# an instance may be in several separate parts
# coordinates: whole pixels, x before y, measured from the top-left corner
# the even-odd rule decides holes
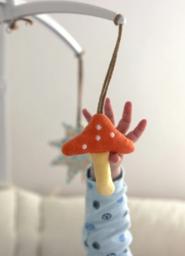
[[[62,146],[66,156],[113,151],[129,154],[134,143],[122,135],[104,114],[95,114],[84,131]]]

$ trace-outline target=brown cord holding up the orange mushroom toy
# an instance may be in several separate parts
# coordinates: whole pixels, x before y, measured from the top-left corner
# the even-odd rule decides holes
[[[116,17],[114,18],[114,24],[116,26],[118,26],[117,21],[121,16],[122,16],[121,14],[117,14]],[[114,52],[113,52],[113,55],[112,55],[112,58],[111,58],[111,62],[108,66],[108,70],[107,70],[105,80],[104,80],[104,83],[103,83],[103,86],[102,86],[102,90],[101,90],[101,94],[100,94],[100,98],[99,98],[99,102],[98,102],[97,114],[103,114],[105,98],[106,98],[106,94],[107,94],[107,91],[108,91],[108,86],[110,84],[110,81],[111,81],[111,78],[112,78],[112,75],[113,75],[114,67],[115,67],[115,64],[116,64],[119,45],[120,45],[120,42],[121,42],[122,31],[123,31],[123,24],[120,24],[119,25],[119,31],[118,31],[118,37],[117,37],[116,45],[115,45],[115,48],[114,48]]]

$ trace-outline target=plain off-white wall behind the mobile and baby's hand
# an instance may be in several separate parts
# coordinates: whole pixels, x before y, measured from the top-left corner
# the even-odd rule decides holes
[[[87,2],[84,0],[83,2]],[[124,102],[133,102],[132,128],[148,127],[134,154],[124,161],[128,194],[185,198],[185,1],[90,0],[127,17],[110,85],[117,121]],[[115,45],[117,28],[99,18],[53,15],[86,50],[83,106],[95,113]],[[75,123],[77,62],[73,53],[38,23],[9,35],[12,85],[13,181],[49,193],[84,193],[80,177],[66,185],[66,168],[50,167],[64,120]]]

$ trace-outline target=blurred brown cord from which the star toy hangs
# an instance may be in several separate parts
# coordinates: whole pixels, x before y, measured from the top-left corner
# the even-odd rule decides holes
[[[78,58],[78,88],[77,88],[77,127],[82,127],[82,94],[83,94],[83,75],[84,75],[84,52],[77,55]]]

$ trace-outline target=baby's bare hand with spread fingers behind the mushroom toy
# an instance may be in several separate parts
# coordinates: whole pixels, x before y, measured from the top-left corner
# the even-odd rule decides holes
[[[105,106],[104,106],[104,114],[110,119],[110,121],[115,125],[115,117],[114,112],[111,106],[111,101],[109,98],[105,100]],[[83,115],[86,118],[87,122],[90,122],[90,119],[92,118],[92,115],[89,113],[88,110],[83,110]],[[123,109],[122,118],[120,119],[118,126],[116,129],[120,131],[125,137],[133,141],[134,143],[141,137],[142,133],[144,132],[147,120],[142,119],[139,124],[136,126],[136,128],[129,132],[130,124],[132,121],[132,103],[130,101],[126,102]],[[127,134],[127,135],[126,135]],[[111,174],[113,181],[119,178],[120,172],[121,172],[121,163],[123,161],[124,155],[117,154],[114,152],[110,152],[109,160],[110,160],[110,166],[111,166]],[[91,167],[90,170],[90,176],[93,180],[96,180],[95,178],[95,172],[94,167]]]

